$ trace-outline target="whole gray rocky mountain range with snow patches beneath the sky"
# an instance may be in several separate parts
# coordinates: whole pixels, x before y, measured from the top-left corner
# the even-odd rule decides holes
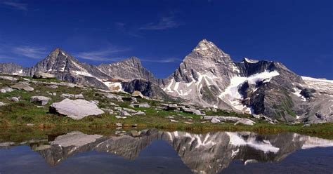
[[[333,121],[333,81],[299,76],[281,62],[244,58],[234,62],[206,39],[166,79],[157,79],[138,58],[102,65],[79,62],[60,48],[33,67],[0,63],[0,72],[57,79],[110,91],[141,91],[150,98],[182,100],[285,122]]]

